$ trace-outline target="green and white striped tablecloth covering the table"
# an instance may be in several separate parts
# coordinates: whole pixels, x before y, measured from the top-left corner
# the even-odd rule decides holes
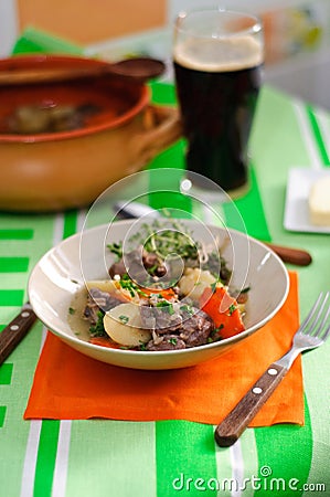
[[[172,103],[173,88],[155,85],[153,98]],[[249,234],[311,252],[312,265],[299,268],[304,317],[310,298],[330,287],[330,239],[284,230],[286,181],[290,167],[329,166],[330,118],[265,87],[251,149],[252,190],[236,205]],[[182,166],[179,142],[150,167]],[[33,265],[84,215],[0,214],[1,329],[26,298]],[[94,220],[104,221],[102,213]],[[330,496],[330,343],[304,357],[304,427],[249,429],[220,450],[213,426],[185,421],[23,421],[44,334],[38,322],[0,368],[0,497]]]

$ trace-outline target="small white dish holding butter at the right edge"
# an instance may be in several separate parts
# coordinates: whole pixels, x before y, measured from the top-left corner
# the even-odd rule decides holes
[[[309,220],[308,197],[315,181],[330,176],[327,169],[291,168],[288,175],[284,226],[288,231],[330,233],[330,226],[317,226]]]

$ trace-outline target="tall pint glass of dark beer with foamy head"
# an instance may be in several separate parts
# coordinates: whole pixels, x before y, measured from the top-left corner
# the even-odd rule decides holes
[[[173,64],[188,177],[193,171],[210,178],[233,198],[248,188],[247,145],[263,62],[256,17],[227,10],[179,14]]]

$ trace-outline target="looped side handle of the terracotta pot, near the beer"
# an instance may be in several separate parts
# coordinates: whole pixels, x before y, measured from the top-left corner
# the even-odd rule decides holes
[[[153,157],[182,137],[179,110],[164,105],[149,105],[143,116],[145,131],[135,136],[131,146],[137,163],[130,172],[146,166]]]

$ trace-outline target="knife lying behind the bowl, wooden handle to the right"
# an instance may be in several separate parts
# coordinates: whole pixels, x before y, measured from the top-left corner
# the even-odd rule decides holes
[[[142,218],[143,215],[148,215],[149,219],[161,218],[159,211],[139,202],[117,202],[114,207],[117,210],[116,215],[121,219]],[[260,242],[267,245],[268,248],[272,248],[286,263],[295,264],[296,266],[308,266],[312,262],[311,255],[301,248]]]

